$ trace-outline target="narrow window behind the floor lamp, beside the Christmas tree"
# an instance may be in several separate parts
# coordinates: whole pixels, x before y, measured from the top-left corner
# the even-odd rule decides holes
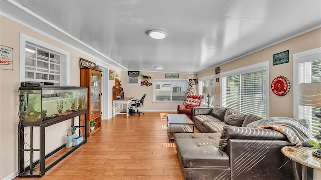
[[[209,99],[207,99],[207,94],[203,93],[203,87],[212,87],[213,93],[209,94]],[[207,107],[207,100],[209,100],[209,107],[214,107],[215,97],[214,97],[214,77],[208,76],[199,79],[199,92],[203,95],[202,107]]]

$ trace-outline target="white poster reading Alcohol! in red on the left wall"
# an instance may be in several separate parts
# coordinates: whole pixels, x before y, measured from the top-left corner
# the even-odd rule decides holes
[[[0,45],[0,69],[13,70],[13,48]]]

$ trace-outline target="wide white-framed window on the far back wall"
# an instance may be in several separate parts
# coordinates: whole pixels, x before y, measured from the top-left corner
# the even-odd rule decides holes
[[[154,79],[154,102],[183,102],[188,79]]]

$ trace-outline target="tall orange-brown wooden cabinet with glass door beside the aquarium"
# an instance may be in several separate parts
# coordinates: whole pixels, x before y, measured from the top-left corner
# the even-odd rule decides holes
[[[80,69],[80,86],[88,88],[88,137],[101,130],[101,77],[100,71]],[[93,130],[92,121],[96,122]]]

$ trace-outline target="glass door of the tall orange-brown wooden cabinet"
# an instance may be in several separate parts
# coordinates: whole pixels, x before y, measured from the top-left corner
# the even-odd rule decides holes
[[[88,107],[91,117],[100,115],[100,83],[100,74],[91,73],[91,107]]]

